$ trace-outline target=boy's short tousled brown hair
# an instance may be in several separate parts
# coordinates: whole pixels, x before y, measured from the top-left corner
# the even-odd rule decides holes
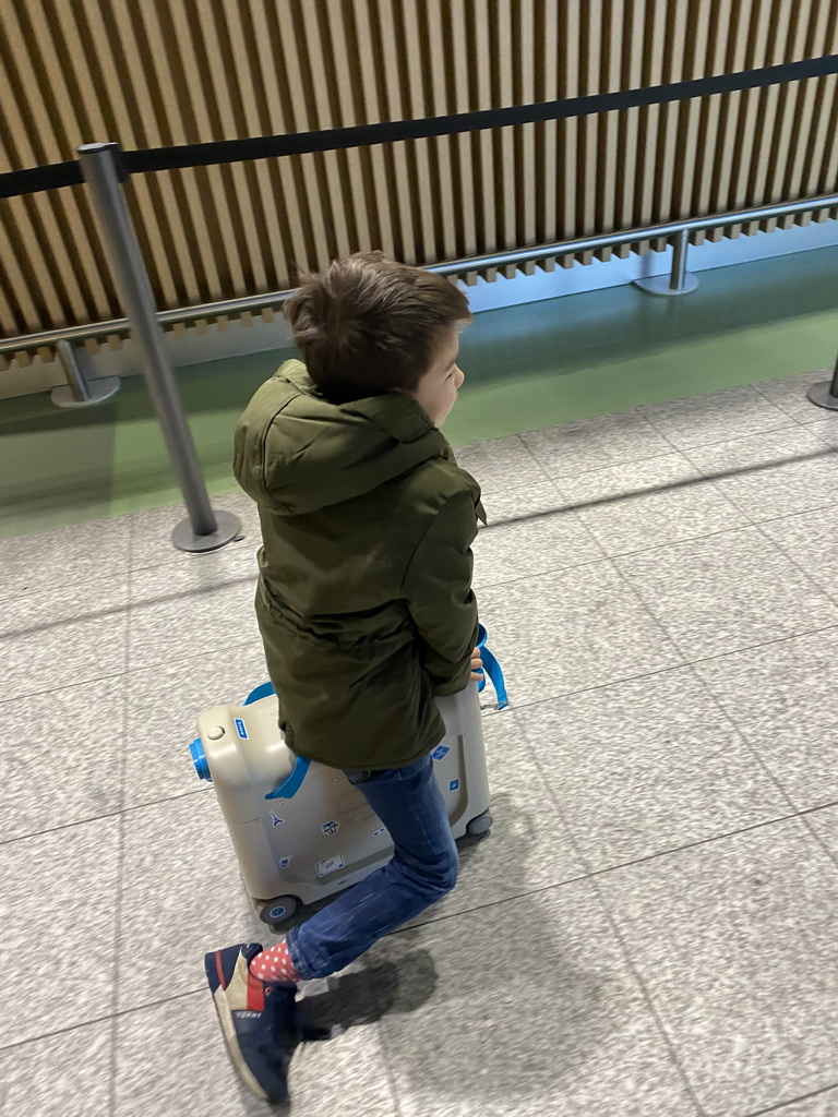
[[[356,252],[306,275],[285,304],[314,383],[332,403],[413,391],[440,343],[470,321],[466,296],[442,276]]]

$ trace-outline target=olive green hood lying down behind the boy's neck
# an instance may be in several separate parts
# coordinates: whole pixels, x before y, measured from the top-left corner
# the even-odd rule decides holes
[[[298,516],[450,456],[412,397],[393,392],[337,405],[320,394],[304,364],[287,361],[239,421],[234,469],[257,504]]]

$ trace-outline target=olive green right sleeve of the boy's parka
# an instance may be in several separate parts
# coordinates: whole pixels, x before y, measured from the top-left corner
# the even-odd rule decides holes
[[[420,658],[437,695],[464,690],[477,642],[477,601],[472,591],[472,543],[477,534],[474,499],[457,493],[413,552],[403,593],[416,624]]]

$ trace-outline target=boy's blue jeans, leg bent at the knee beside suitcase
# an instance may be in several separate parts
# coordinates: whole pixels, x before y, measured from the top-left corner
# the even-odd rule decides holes
[[[295,927],[288,953],[301,977],[327,977],[423,911],[457,882],[459,865],[434,761],[387,772],[347,772],[390,831],[392,860]]]

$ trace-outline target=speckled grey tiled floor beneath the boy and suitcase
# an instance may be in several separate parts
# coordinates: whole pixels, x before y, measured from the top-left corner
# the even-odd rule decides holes
[[[312,1000],[297,1117],[838,1115],[838,437],[812,376],[469,447],[512,708],[461,884]],[[257,1117],[201,955],[260,934],[187,743],[263,676],[256,522],[0,543],[10,1117]],[[268,936],[269,941],[269,936]]]

